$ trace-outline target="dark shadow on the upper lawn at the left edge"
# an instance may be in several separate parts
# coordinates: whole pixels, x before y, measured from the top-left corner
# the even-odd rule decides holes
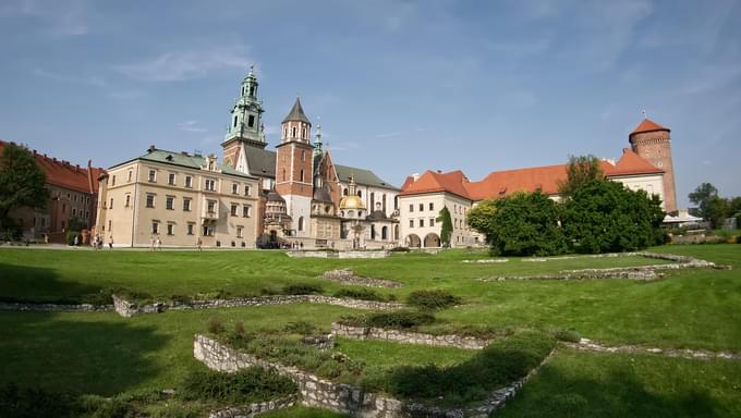
[[[110,304],[100,286],[60,281],[49,268],[0,262],[0,302]]]

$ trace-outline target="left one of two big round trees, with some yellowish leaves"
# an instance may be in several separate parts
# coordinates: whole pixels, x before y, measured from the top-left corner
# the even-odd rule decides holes
[[[472,209],[469,224],[486,235],[494,255],[548,256],[567,249],[559,214],[559,206],[540,192],[521,192]]]

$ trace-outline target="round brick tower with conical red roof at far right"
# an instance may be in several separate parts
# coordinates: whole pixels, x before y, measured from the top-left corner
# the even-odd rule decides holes
[[[643,120],[628,137],[635,153],[664,170],[664,210],[677,210],[677,188],[671,162],[670,130],[648,119]]]

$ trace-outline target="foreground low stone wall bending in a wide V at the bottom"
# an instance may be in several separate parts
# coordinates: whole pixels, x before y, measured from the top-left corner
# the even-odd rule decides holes
[[[301,371],[295,367],[260,360],[255,356],[240,353],[204,335],[196,335],[193,342],[193,356],[203,361],[209,369],[226,372],[234,372],[253,366],[272,369],[297,384],[302,396],[301,404],[363,418],[489,417],[495,410],[501,408],[505,406],[505,403],[514,397],[520,389],[550,359],[554,353],[555,351],[538,367],[531,370],[522,379],[491,392],[489,397],[482,404],[466,408],[445,409],[415,403],[403,403],[392,397],[366,393],[362,389],[349,384],[333,383]]]

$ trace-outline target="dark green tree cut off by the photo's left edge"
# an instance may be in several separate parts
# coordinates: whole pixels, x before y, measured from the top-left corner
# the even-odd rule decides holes
[[[10,226],[10,211],[21,207],[42,209],[49,198],[46,174],[27,149],[5,144],[0,155],[0,230]]]

